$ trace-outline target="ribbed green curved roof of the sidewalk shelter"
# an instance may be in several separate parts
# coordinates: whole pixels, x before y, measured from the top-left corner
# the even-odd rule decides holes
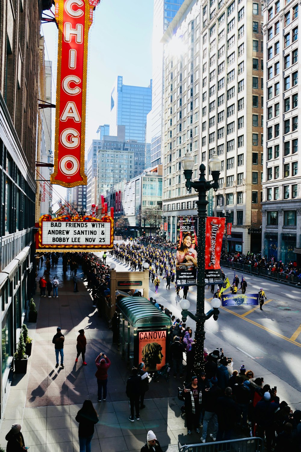
[[[118,300],[118,308],[126,320],[137,328],[171,326],[171,318],[144,297],[126,297]]]

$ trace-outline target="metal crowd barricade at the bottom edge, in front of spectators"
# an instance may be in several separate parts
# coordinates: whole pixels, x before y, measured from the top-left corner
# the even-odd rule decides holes
[[[179,452],[263,452],[261,438],[241,438],[215,443],[190,444],[180,447]]]

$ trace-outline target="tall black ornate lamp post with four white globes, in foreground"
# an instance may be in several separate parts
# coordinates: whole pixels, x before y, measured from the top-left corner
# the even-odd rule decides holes
[[[206,230],[206,217],[207,217],[207,204],[206,193],[210,188],[215,191],[218,189],[218,179],[221,171],[222,162],[218,156],[213,153],[213,157],[209,160],[209,168],[212,174],[212,181],[205,179],[205,166],[202,164],[199,167],[200,175],[199,180],[191,181],[192,170],[194,167],[194,159],[189,152],[186,152],[182,160],[182,168],[184,170],[184,176],[186,179],[185,186],[189,191],[194,188],[199,193],[199,199],[196,201],[198,208],[198,272],[197,272],[197,296],[196,296],[196,313],[191,314],[188,311],[190,303],[188,300],[181,301],[182,308],[182,320],[185,322],[187,316],[196,322],[195,330],[195,347],[194,347],[194,373],[199,375],[201,370],[204,370],[204,339],[205,339],[205,321],[212,315],[214,320],[218,320],[218,308],[221,306],[221,301],[218,298],[214,298],[211,302],[212,309],[205,314],[205,230]]]

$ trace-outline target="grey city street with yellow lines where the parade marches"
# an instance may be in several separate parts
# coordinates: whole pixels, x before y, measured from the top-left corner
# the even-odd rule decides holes
[[[116,271],[129,268],[115,258],[112,261],[116,264]],[[234,270],[223,270],[232,283],[236,274]],[[238,273],[238,277],[241,280],[241,273]],[[245,364],[245,368],[251,369],[256,377],[264,377],[265,383],[271,387],[277,386],[280,400],[286,400],[293,410],[300,409],[301,376],[296,369],[301,366],[301,291],[297,287],[247,274],[244,278],[248,284],[247,293],[258,293],[263,287],[267,297],[263,311],[259,310],[259,306],[221,307],[218,320],[211,318],[205,323],[205,347],[208,351],[222,347],[225,355],[233,358],[233,369],[239,371],[241,364]],[[171,284],[168,290],[165,280],[162,277],[160,280],[157,295],[150,280],[150,296],[181,319],[182,290],[180,297],[177,297],[175,284]],[[218,286],[215,286],[215,291],[217,289]],[[229,292],[230,289],[226,291]],[[212,298],[210,289],[206,289],[205,312],[210,310]],[[190,289],[187,300],[190,301],[190,311],[195,313],[196,287]],[[195,322],[187,318],[186,325],[194,329]]]

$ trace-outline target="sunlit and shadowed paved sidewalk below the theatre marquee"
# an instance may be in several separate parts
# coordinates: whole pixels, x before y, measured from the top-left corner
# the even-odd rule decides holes
[[[107,259],[110,264],[111,259]],[[43,275],[40,268],[38,279]],[[92,440],[92,451],[140,451],[146,442],[146,435],[152,429],[163,450],[178,451],[178,443],[199,443],[200,434],[187,437],[185,421],[181,419],[177,399],[178,379],[151,382],[141,410],[140,420],[131,423],[129,404],[125,395],[125,382],[130,369],[121,359],[116,346],[111,344],[111,331],[92,307],[92,299],[80,279],[79,292],[73,292],[73,282],[69,274],[62,273],[59,259],[57,268],[51,268],[51,279],[57,275],[59,298],[41,298],[39,290],[34,297],[37,304],[37,324],[28,322],[28,334],[33,339],[32,355],[28,359],[26,375],[14,375],[11,383],[4,417],[0,423],[0,445],[6,447],[5,435],[11,425],[20,423],[26,446],[31,452],[77,452],[78,423],[75,416],[83,401],[90,398],[99,415]],[[60,326],[65,334],[64,365],[56,365],[52,338]],[[76,357],[76,337],[83,328],[87,338],[86,361]],[[97,402],[97,380],[95,358],[105,352],[111,360],[106,402]]]

